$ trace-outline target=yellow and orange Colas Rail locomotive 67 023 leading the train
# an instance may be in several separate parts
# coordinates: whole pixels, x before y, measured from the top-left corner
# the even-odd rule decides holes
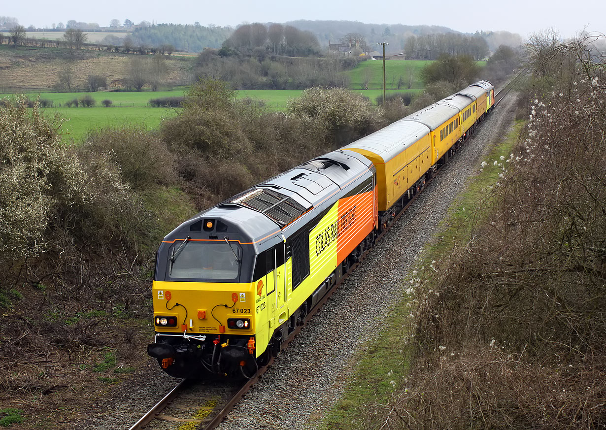
[[[252,378],[376,237],[375,168],[335,151],[162,240],[148,354],[178,378]]]

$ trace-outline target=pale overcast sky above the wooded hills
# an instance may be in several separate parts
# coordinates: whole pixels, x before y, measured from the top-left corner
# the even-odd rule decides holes
[[[4,1],[0,15],[13,16],[28,27],[50,27],[70,19],[97,22],[102,27],[116,18],[138,23],[232,25],[243,22],[285,22],[296,19],[337,19],[372,24],[444,25],[454,30],[507,30],[522,37],[554,27],[564,37],[587,27],[606,33],[606,1],[500,0],[458,1],[385,0],[335,2],[326,0],[174,0],[174,1]],[[476,6],[477,5],[477,6]]]

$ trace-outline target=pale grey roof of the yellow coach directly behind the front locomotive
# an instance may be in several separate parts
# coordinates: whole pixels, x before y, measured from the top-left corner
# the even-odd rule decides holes
[[[343,147],[343,149],[367,150],[373,154],[378,154],[384,162],[387,162],[428,133],[427,125],[401,119],[379,131],[375,131],[373,134],[362,137],[362,139]]]

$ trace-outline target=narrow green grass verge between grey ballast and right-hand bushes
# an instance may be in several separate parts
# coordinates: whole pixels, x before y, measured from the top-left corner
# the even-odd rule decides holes
[[[435,239],[425,246],[421,254],[421,262],[429,263],[432,259],[452,250],[455,238],[462,231],[469,231],[472,226],[472,208],[478,207],[480,200],[486,199],[491,185],[499,180],[502,173],[501,156],[507,159],[516,145],[517,136],[523,121],[516,122],[513,130],[496,144],[488,155],[487,165],[476,176],[471,178],[467,190],[455,200],[448,210],[448,215],[439,226]],[[494,165],[494,160],[498,160]],[[485,216],[485,214],[481,214]],[[462,230],[464,229],[464,230]],[[402,280],[402,285],[408,279]],[[374,403],[385,404],[395,391],[398,383],[405,380],[409,363],[405,357],[413,351],[405,351],[405,340],[408,333],[407,315],[408,301],[404,298],[388,312],[384,328],[371,340],[362,346],[354,362],[358,363],[353,369],[353,377],[342,394],[341,399],[327,413],[320,426],[321,429],[351,429],[364,426],[364,416],[368,406]]]

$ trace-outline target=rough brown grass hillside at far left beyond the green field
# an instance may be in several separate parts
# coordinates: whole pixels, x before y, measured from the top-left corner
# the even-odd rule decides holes
[[[39,48],[0,45],[0,93],[49,90],[58,81],[58,73],[72,67],[74,86],[84,89],[89,74],[101,74],[107,82],[124,79],[130,61],[136,55],[66,48]],[[191,58],[166,58],[167,85],[179,85],[190,80]]]

